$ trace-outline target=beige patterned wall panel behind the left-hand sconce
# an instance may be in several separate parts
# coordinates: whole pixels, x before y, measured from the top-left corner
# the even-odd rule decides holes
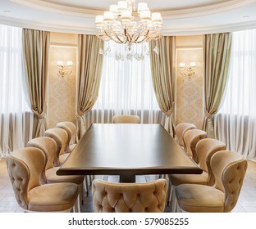
[[[75,75],[77,47],[51,46],[48,82],[48,128],[58,122],[75,123]],[[58,73],[57,61],[73,61],[71,74]]]

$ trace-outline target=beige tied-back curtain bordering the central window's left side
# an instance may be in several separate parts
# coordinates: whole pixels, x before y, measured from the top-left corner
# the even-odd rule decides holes
[[[103,48],[103,41],[95,35],[78,36],[79,69],[77,91],[76,141],[83,136],[86,127],[85,115],[91,110],[98,98],[98,88],[103,68],[103,55],[98,53]]]

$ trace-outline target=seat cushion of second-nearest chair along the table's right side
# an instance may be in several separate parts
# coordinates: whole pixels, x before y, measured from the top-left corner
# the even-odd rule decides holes
[[[201,184],[206,185],[208,181],[208,173],[201,174],[169,174],[171,185],[178,186],[181,184]]]

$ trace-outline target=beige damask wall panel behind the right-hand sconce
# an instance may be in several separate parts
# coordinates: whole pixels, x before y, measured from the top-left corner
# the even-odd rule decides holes
[[[176,124],[203,123],[203,50],[202,48],[176,49]],[[189,78],[181,74],[180,62],[196,62],[195,74]]]

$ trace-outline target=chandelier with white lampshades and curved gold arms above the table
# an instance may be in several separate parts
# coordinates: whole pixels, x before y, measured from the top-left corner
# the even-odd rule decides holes
[[[133,43],[144,43],[162,38],[162,16],[151,13],[145,2],[139,2],[135,11],[135,0],[118,1],[111,5],[103,16],[96,16],[98,38],[127,44],[130,51]]]

